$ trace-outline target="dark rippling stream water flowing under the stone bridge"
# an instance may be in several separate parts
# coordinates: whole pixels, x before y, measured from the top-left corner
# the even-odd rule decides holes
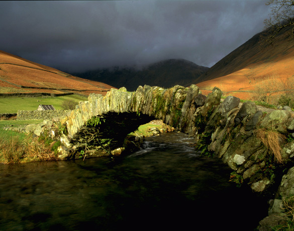
[[[192,141],[170,133],[115,161],[0,166],[0,230],[254,230],[266,204]]]

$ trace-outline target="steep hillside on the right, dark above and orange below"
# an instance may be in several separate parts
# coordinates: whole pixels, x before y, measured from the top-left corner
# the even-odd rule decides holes
[[[294,82],[294,41],[284,37],[286,32],[271,46],[261,44],[262,33],[256,34],[190,83],[207,90],[217,86],[226,95],[250,99],[256,94],[257,85],[268,77],[275,82]]]

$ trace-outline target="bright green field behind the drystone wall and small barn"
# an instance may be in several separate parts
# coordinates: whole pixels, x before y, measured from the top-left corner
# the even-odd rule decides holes
[[[88,98],[80,95],[40,96],[40,97],[0,97],[0,113],[17,113],[18,110],[36,110],[39,104],[52,104],[55,109],[63,109],[65,100],[87,101]]]

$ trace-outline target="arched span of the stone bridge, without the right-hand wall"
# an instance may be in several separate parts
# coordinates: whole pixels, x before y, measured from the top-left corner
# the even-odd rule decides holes
[[[122,87],[111,89],[105,96],[90,94],[88,101],[79,102],[64,119],[67,135],[61,138],[64,144],[61,158],[66,155],[76,158],[81,147],[95,147],[93,156],[120,152],[127,134],[155,119],[191,135],[192,113],[197,106],[193,103],[191,109],[191,102],[198,95],[199,88],[195,85],[168,89],[145,85],[134,92]],[[110,143],[111,149],[107,145]]]

